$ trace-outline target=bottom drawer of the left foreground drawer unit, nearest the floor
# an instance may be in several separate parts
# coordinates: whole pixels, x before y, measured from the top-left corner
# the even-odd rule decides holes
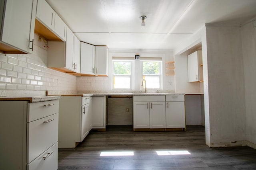
[[[27,165],[27,170],[56,170],[57,168],[58,142]]]

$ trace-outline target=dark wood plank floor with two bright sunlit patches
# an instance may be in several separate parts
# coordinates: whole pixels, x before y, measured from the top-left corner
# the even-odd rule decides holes
[[[180,150],[186,154],[176,154]],[[100,156],[106,151],[134,155]],[[170,155],[158,155],[156,151]],[[74,149],[59,149],[58,170],[124,169],[256,170],[256,150],[210,148],[205,145],[202,126],[188,126],[187,131],[179,132],[133,132],[131,126],[114,126],[105,132],[91,132]]]

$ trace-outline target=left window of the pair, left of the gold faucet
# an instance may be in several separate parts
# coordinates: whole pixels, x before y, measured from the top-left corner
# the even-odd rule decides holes
[[[113,89],[131,89],[132,61],[113,61]]]

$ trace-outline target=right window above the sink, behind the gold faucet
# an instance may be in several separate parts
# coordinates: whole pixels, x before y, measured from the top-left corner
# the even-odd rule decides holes
[[[141,61],[142,64],[142,79],[147,82],[147,88],[161,88],[161,61]]]

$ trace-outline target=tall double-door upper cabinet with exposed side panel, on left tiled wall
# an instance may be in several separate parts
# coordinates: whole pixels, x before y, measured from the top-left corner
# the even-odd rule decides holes
[[[66,73],[80,73],[80,41],[67,27],[66,42],[48,41],[47,66]]]

